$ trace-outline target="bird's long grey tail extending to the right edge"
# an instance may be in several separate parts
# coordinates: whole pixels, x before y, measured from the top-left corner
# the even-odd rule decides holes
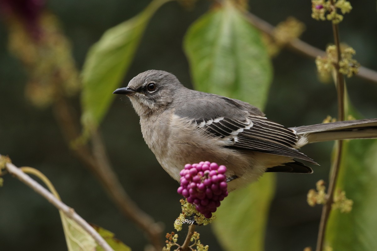
[[[377,138],[377,119],[339,121],[290,129],[296,130],[296,135],[301,138],[301,145],[331,140]]]

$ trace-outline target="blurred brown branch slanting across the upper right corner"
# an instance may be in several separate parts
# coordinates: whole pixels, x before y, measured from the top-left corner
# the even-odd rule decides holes
[[[264,33],[267,33],[271,37],[274,37],[273,31],[275,27],[273,25],[267,23],[266,21],[262,20],[261,18],[257,17],[256,15],[250,12],[245,12],[245,16],[247,20],[251,24],[253,24],[257,29],[261,30]],[[301,55],[307,56],[309,58],[316,58],[317,56],[325,55],[325,52],[323,50],[311,46],[310,44],[305,43],[304,41],[299,40],[298,38],[288,41],[286,46],[294,52],[298,52]],[[359,73],[357,73],[356,76],[369,82],[377,83],[377,71],[371,70],[369,68],[360,66]]]

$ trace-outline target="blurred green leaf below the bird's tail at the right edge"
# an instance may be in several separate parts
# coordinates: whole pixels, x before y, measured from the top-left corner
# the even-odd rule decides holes
[[[344,142],[336,190],[354,201],[350,213],[331,211],[326,245],[333,250],[377,250],[377,141]]]

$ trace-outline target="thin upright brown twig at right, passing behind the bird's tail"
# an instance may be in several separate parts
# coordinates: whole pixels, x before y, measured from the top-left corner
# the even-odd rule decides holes
[[[332,4],[333,1],[331,1]],[[333,33],[334,33],[334,43],[337,49],[337,61],[334,65],[336,70],[336,90],[337,90],[337,100],[338,100],[338,120],[342,121],[344,120],[344,96],[345,96],[345,82],[343,74],[339,72],[339,62],[342,59],[340,54],[340,38],[339,38],[339,26],[338,24],[333,23]],[[331,178],[329,182],[328,192],[326,195],[326,203],[323,205],[322,208],[322,215],[321,220],[319,224],[319,230],[318,230],[318,239],[317,239],[317,247],[316,251],[322,251],[323,250],[323,244],[325,241],[325,233],[326,233],[326,226],[328,223],[328,218],[331,212],[331,207],[334,202],[334,191],[336,187],[336,181],[338,178],[338,173],[340,169],[340,163],[342,159],[342,152],[343,152],[343,141],[339,140],[337,141],[337,147],[336,147],[336,157],[333,164],[333,169],[331,173]]]

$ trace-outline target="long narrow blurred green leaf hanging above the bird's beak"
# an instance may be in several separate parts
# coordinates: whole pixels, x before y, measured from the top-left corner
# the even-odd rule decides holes
[[[100,124],[115,97],[113,91],[128,70],[149,19],[169,1],[152,1],[137,16],[107,30],[90,48],[82,73],[81,123],[84,131]]]

